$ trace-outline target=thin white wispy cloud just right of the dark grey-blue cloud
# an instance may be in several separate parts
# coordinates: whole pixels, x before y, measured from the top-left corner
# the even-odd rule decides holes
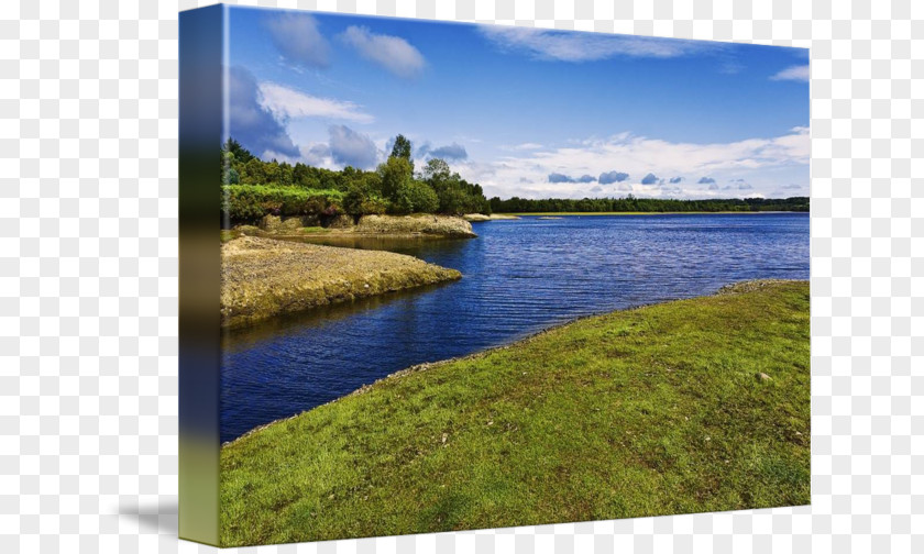
[[[314,97],[275,82],[260,84],[260,106],[277,120],[324,118],[358,123],[370,123],[374,120],[353,102]]]

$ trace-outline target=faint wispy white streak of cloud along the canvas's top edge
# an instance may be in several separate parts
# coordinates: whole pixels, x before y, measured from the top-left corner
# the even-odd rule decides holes
[[[481,26],[482,35],[504,49],[521,51],[539,59],[592,62],[618,56],[669,58],[724,48],[722,43],[548,29]]]

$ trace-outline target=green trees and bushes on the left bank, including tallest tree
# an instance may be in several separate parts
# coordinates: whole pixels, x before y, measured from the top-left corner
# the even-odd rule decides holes
[[[221,168],[222,215],[233,223],[253,223],[266,214],[491,213],[481,186],[444,160],[429,159],[415,173],[411,144],[403,135],[372,171],[264,162],[233,138],[221,147]]]

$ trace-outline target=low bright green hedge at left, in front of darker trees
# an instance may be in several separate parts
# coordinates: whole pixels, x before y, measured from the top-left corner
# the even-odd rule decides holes
[[[222,212],[234,223],[255,222],[274,215],[337,214],[343,193],[278,185],[222,185]]]

